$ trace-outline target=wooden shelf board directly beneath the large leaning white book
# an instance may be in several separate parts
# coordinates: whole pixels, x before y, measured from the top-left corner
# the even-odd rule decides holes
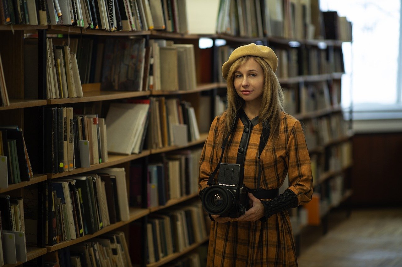
[[[131,160],[137,160],[139,158],[144,158],[149,155],[150,155],[149,150],[144,150],[140,154],[131,154],[131,155],[109,154],[108,155],[109,161],[107,161],[107,162],[103,162],[100,164],[92,164],[89,168],[77,168],[77,169],[74,169],[69,172],[47,174],[47,178],[54,179],[54,178],[59,178],[59,177],[64,177],[64,176],[69,176],[69,175],[74,175],[74,174],[80,174],[80,173],[84,173],[84,172],[92,172],[94,170],[98,170],[101,168],[106,168],[106,167],[114,166],[114,165],[121,164],[124,162],[129,162]]]

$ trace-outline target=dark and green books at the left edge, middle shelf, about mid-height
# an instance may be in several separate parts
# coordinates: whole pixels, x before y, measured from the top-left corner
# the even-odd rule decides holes
[[[0,126],[0,188],[32,177],[23,130],[15,125]]]

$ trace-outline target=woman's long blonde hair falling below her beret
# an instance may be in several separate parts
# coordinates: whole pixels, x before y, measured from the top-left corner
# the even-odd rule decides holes
[[[261,95],[262,103],[258,122],[263,123],[263,125],[269,123],[271,126],[270,137],[272,138],[272,143],[270,149],[273,149],[279,138],[281,111],[284,111],[283,90],[277,76],[268,63],[264,59],[255,56],[241,57],[229,69],[227,80],[228,109],[226,111],[225,126],[219,131],[218,144],[222,144],[224,138],[229,134],[238,110],[244,105],[244,100],[237,94],[234,88],[234,72],[248,59],[253,59],[264,71],[263,93]]]

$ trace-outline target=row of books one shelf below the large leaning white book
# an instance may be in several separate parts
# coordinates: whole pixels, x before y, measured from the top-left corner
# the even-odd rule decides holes
[[[67,176],[46,183],[46,244],[93,234],[129,220],[124,168]]]

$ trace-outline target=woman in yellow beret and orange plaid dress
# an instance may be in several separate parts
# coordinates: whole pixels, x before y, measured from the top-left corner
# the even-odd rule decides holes
[[[210,214],[208,266],[297,266],[287,209],[311,200],[313,180],[301,124],[283,111],[277,64],[272,49],[248,44],[222,66],[228,109],[214,119],[205,142],[199,195],[211,185],[226,136],[222,162],[244,166],[245,186],[260,190],[250,190],[252,207],[242,216]],[[288,172],[289,187],[278,195]]]

